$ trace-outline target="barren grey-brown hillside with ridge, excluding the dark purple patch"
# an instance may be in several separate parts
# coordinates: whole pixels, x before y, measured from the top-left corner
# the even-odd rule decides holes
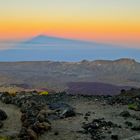
[[[0,85],[64,90],[71,82],[140,86],[140,63],[133,59],[81,62],[1,62]]]

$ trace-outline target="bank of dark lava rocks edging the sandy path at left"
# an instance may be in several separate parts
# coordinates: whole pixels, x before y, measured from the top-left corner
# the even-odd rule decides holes
[[[47,113],[42,110],[46,105],[44,97],[32,95],[32,93],[17,93],[15,96],[6,94],[0,98],[5,99],[5,97],[7,99],[10,97],[11,104],[18,106],[22,113],[22,128],[18,135],[20,140],[37,140],[40,134],[51,129]],[[6,117],[4,112],[0,110],[0,120],[3,120],[4,116]]]

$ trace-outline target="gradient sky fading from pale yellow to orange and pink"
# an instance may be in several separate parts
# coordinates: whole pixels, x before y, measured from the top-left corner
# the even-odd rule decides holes
[[[0,40],[38,34],[140,47],[140,0],[0,0]]]

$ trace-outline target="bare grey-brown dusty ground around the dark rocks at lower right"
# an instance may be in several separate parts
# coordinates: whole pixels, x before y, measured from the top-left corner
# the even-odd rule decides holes
[[[120,117],[120,112],[128,110],[125,105],[107,105],[100,101],[89,101],[84,99],[76,99],[69,101],[68,104],[75,107],[76,112],[86,114],[91,112],[88,117],[88,121],[91,122],[94,118],[105,118],[107,121],[112,121],[118,125],[121,125],[122,128],[112,129],[112,134],[118,134],[119,140],[124,140],[126,138],[137,136],[139,132],[132,131],[131,129],[125,128],[124,122],[126,121],[123,117]],[[139,112],[128,110],[131,114],[140,115]],[[134,124],[139,123],[134,119],[127,119]],[[82,123],[86,122],[82,115],[77,115],[76,117],[65,118],[62,120],[51,121],[52,131],[42,135],[40,140],[91,140],[90,135],[84,135],[79,133],[82,128]],[[57,133],[58,134],[57,134]],[[111,140],[110,136],[106,136],[104,140]]]

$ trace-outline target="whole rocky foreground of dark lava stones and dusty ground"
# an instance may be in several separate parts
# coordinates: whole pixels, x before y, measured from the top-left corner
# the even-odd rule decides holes
[[[0,93],[0,140],[140,140],[140,90]]]

